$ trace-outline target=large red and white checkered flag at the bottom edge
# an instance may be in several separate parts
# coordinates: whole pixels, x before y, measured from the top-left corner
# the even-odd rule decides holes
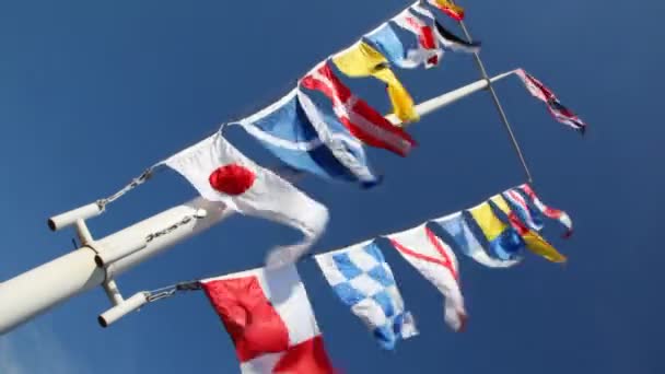
[[[231,336],[243,374],[332,374],[312,305],[294,266],[201,281]]]

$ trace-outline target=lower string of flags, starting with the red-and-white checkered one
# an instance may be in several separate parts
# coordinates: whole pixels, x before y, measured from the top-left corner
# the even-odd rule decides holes
[[[476,207],[313,258],[332,293],[363,322],[378,347],[394,350],[399,341],[417,337],[419,331],[383,248],[396,250],[439,290],[444,296],[445,323],[462,331],[468,314],[456,253],[490,268],[512,267],[526,252],[552,262],[565,261],[539,235],[545,218],[572,233],[570,217],[545,206],[525,184]],[[336,372],[296,264],[192,284],[197,285],[188,289],[201,289],[219,315],[243,373]]]

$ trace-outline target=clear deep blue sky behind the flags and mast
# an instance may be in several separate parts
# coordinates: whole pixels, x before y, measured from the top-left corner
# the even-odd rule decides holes
[[[46,218],[115,191],[144,167],[280,97],[328,54],[409,2],[5,1],[0,4],[0,280],[72,249],[71,231]],[[385,252],[421,330],[381,351],[313,262],[299,269],[327,349],[346,373],[663,373],[660,300],[665,255],[660,210],[663,2],[464,3],[490,73],[524,67],[590,124],[585,138],[555,122],[516,79],[498,92],[541,198],[572,215],[575,236],[546,235],[565,266],[529,257],[511,270],[460,258],[470,320],[444,326],[438,292]],[[456,30],[460,33],[459,30]],[[470,56],[439,69],[397,71],[417,101],[478,78]],[[350,82],[387,109],[378,84]],[[410,129],[407,159],[371,150],[386,175],[373,190],[314,177],[302,189],[331,221],[316,250],[411,227],[518,185],[524,175],[491,105],[479,93]],[[229,138],[276,163],[242,130]],[[175,173],[89,222],[103,237],[183,202],[195,190]],[[256,267],[288,227],[235,217],[122,276],[126,294]],[[0,372],[236,373],[226,332],[200,293],[155,303],[108,329],[101,289],[0,338]]]

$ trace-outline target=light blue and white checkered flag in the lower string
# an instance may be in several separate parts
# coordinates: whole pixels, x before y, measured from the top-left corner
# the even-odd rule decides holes
[[[335,293],[368,325],[382,348],[392,350],[397,340],[418,335],[393,271],[374,241],[315,258]]]

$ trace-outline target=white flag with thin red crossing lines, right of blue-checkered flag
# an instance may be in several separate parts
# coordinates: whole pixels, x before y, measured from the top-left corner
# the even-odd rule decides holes
[[[445,322],[455,331],[464,330],[467,314],[459,289],[457,257],[450,245],[420,226],[387,236],[395,249],[445,296]]]

